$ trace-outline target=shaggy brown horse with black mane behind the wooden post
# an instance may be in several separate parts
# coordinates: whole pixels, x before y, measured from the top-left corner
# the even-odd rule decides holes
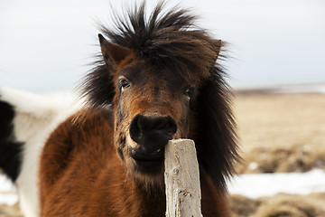
[[[219,40],[178,8],[144,4],[113,30],[82,84],[87,106],[47,139],[42,216],[164,216],[164,146],[195,141],[203,216],[229,216],[225,179],[238,160]]]

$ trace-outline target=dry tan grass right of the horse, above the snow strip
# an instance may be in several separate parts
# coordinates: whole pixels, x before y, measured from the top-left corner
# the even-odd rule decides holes
[[[325,168],[325,94],[240,94],[238,173]]]

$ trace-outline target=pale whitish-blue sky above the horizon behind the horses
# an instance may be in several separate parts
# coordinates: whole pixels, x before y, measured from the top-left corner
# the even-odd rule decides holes
[[[72,90],[99,51],[96,21],[109,23],[109,2],[121,10],[135,1],[1,0],[0,85]],[[230,43],[234,88],[325,83],[325,1],[169,1],[178,3]]]

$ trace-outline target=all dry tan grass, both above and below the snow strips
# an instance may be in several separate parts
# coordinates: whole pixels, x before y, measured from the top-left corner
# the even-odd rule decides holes
[[[325,168],[325,94],[244,94],[234,101],[243,164],[237,172],[304,172]],[[235,217],[325,216],[325,193],[230,196]],[[20,216],[17,206],[0,217]]]

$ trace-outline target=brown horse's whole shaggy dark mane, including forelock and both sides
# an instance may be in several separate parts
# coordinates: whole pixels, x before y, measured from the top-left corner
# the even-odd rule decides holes
[[[196,26],[197,17],[190,10],[176,7],[163,12],[163,7],[163,2],[159,3],[147,16],[143,3],[125,15],[116,15],[115,28],[100,25],[100,30],[110,42],[134,52],[137,59],[185,80],[200,80],[192,105],[196,129],[191,138],[197,146],[200,169],[219,189],[226,189],[225,178],[233,174],[239,156],[226,74],[216,63],[217,56],[224,55],[218,53],[218,41]],[[102,57],[96,64],[82,84],[84,96],[95,107],[112,103],[115,96],[113,73],[109,73],[113,69]]]

